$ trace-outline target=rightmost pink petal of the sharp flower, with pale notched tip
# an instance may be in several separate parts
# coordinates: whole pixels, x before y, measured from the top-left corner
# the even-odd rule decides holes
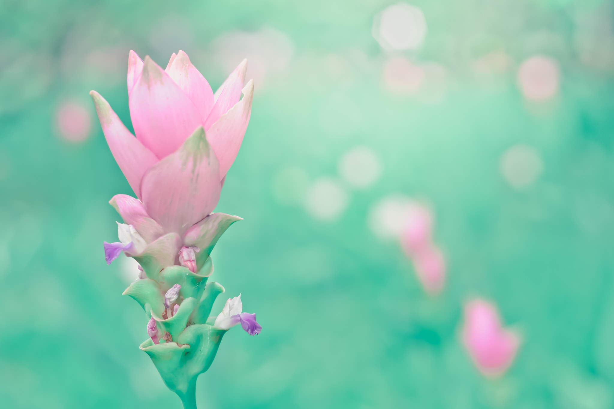
[[[254,80],[249,80],[243,88],[244,97],[227,113],[222,115],[207,131],[207,138],[220,162],[220,180],[235,162],[243,136],[252,113]]]

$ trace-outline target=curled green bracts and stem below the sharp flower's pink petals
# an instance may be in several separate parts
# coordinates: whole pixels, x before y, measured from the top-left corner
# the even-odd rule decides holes
[[[196,408],[196,379],[211,366],[227,329],[213,326],[209,316],[222,285],[208,281],[213,272],[212,248],[222,233],[241,218],[214,213],[193,226],[184,239],[177,234],[161,235],[133,258],[146,278],[131,283],[123,292],[141,305],[150,318],[152,337],[140,346],[153,361],[169,389],[182,400],[184,408]],[[182,244],[200,245],[198,273],[174,264]],[[200,247],[199,247],[200,249]],[[165,294],[179,286],[172,305]]]

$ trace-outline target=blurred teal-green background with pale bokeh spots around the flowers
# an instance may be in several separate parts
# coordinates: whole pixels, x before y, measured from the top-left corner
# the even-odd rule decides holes
[[[104,262],[132,191],[88,92],[132,129],[130,49],[255,78],[212,280],[264,329],[225,336],[203,408],[614,405],[614,2],[395,4],[0,1],[3,407],[181,407],[138,348],[137,270]],[[395,238],[410,199],[435,296]],[[523,339],[500,378],[460,340],[472,297]]]

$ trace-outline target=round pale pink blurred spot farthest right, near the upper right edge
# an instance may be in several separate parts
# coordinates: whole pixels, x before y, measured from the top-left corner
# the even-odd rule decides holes
[[[524,61],[518,70],[523,94],[534,101],[550,99],[559,89],[559,67],[552,58],[536,55]]]

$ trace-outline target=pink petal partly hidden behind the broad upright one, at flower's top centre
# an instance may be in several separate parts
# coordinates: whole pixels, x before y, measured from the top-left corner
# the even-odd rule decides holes
[[[171,58],[171,61],[172,63],[169,63],[166,72],[196,105],[201,121],[204,123],[214,104],[211,86],[204,79],[203,74],[198,72],[196,67],[190,63],[190,58],[186,53],[180,50],[177,57]]]

